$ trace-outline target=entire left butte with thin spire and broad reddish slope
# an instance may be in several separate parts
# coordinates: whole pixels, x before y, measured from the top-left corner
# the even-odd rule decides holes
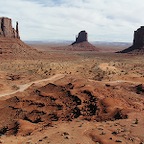
[[[0,17],[0,59],[44,57],[43,53],[25,44],[19,35],[18,22],[12,27],[12,20]]]

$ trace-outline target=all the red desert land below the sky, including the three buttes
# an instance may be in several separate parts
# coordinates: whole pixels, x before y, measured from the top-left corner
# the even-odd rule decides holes
[[[1,144],[144,144],[144,27],[133,45],[26,44],[0,18]]]

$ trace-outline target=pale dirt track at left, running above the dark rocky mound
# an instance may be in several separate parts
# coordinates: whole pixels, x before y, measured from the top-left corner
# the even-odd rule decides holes
[[[28,89],[32,84],[37,84],[37,83],[44,82],[44,81],[54,82],[56,80],[59,80],[59,79],[63,78],[64,76],[65,76],[64,74],[56,74],[56,75],[54,75],[54,76],[52,76],[50,78],[47,78],[47,79],[37,80],[37,81],[30,82],[30,83],[27,83],[27,84],[24,84],[24,85],[18,85],[18,87],[19,87],[18,90],[13,91],[13,92],[0,94],[0,97],[12,95],[12,94],[15,94],[17,92],[23,92],[26,89]]]

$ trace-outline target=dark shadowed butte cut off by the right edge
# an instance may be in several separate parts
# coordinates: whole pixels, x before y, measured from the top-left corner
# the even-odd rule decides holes
[[[144,26],[134,31],[133,45],[120,53],[139,53],[144,54]]]

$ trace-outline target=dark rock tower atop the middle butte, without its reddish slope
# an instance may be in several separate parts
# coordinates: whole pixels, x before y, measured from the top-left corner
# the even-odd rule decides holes
[[[88,41],[88,34],[86,31],[79,32],[78,36],[76,37],[76,41],[73,44],[81,43],[81,42],[87,42]]]

